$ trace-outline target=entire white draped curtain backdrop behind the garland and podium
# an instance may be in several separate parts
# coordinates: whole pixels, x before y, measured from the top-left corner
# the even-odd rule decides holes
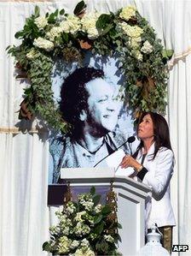
[[[49,237],[48,132],[36,132],[37,122],[18,124],[19,104],[26,83],[14,78],[14,62],[5,49],[19,45],[14,33],[22,29],[36,4],[42,14],[55,9],[67,13],[78,0],[15,2],[0,0],[0,255],[47,255]],[[188,244],[191,255],[191,2],[166,0],[87,0],[88,11],[113,11],[135,4],[154,27],[167,49],[175,51],[169,63],[169,98],[166,118],[176,155],[171,181],[172,205],[177,217],[174,244]],[[178,253],[175,253],[177,255]]]

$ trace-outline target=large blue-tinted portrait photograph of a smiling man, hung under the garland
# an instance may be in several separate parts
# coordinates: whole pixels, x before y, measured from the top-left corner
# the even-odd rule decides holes
[[[88,56],[85,61],[99,68],[84,63],[84,68],[73,68],[61,84],[57,102],[72,130],[50,138],[49,182],[61,182],[61,168],[108,166],[108,155],[119,147],[130,153],[132,147],[128,138],[135,134],[134,120],[121,100],[124,88],[118,59]],[[53,82],[55,87],[61,78]]]

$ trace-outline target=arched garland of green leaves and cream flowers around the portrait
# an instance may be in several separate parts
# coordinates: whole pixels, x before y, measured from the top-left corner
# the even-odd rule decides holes
[[[73,15],[64,9],[40,15],[35,13],[15,34],[19,46],[9,46],[12,55],[31,86],[25,89],[20,104],[20,118],[32,119],[40,115],[49,127],[66,133],[70,125],[61,119],[51,90],[51,72],[56,58],[66,62],[82,63],[84,54],[113,56],[119,53],[120,69],[126,81],[125,98],[134,116],[142,111],[157,110],[165,113],[167,61],[172,51],[166,51],[135,7],[119,9],[116,14],[85,13],[84,1],[78,3]]]

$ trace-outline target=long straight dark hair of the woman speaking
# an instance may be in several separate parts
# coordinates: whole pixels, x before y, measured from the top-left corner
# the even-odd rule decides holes
[[[139,128],[139,124],[142,122],[144,116],[150,115],[153,121],[153,140],[155,142],[155,148],[153,152],[153,159],[156,157],[157,152],[161,146],[165,146],[168,149],[171,149],[171,140],[170,140],[170,133],[169,127],[167,122],[165,121],[165,117],[159,115],[155,112],[143,112],[142,116],[140,116],[137,130]],[[143,147],[143,141],[141,140],[140,145],[137,147],[137,150],[134,154],[134,158],[136,158],[138,151]],[[171,149],[172,150],[172,149]]]

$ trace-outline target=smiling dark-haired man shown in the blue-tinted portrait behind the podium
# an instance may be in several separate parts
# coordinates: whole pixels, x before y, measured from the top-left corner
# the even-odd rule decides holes
[[[118,92],[119,87],[108,82],[101,69],[77,68],[64,80],[60,110],[73,128],[71,134],[50,143],[53,183],[59,182],[62,167],[94,167],[127,140],[116,129],[122,107]],[[123,149],[128,153],[128,144]]]

